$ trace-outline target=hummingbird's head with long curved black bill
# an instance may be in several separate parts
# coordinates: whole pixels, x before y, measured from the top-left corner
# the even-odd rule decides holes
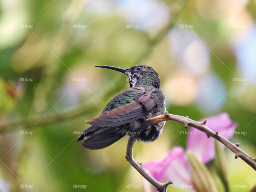
[[[99,65],[96,67],[112,69],[126,74],[129,78],[130,87],[154,86],[158,89],[160,87],[160,79],[158,73],[152,67],[146,65],[136,65],[130,69],[123,69],[121,67],[107,65]]]

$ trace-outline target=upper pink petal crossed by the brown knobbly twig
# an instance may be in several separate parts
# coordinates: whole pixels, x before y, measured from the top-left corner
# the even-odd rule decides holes
[[[218,131],[226,139],[233,136],[234,130],[238,124],[231,121],[229,114],[221,113],[212,117],[204,118],[199,122],[207,120],[206,126],[213,131]],[[207,135],[193,127],[190,129],[187,137],[187,150],[191,151],[199,161],[208,163],[215,157],[214,139],[207,138]],[[221,144],[224,148],[225,146]]]

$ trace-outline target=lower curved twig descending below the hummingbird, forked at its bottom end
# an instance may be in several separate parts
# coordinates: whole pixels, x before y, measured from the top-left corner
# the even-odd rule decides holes
[[[134,160],[133,145],[135,141],[136,139],[133,137],[130,137],[128,140],[125,156],[126,160],[142,175],[142,177],[147,179],[148,182],[150,182],[154,187],[156,187],[159,192],[166,192],[167,186],[173,184],[173,182],[170,180],[167,181],[166,183],[160,183],[145,171],[141,163],[138,163]]]

